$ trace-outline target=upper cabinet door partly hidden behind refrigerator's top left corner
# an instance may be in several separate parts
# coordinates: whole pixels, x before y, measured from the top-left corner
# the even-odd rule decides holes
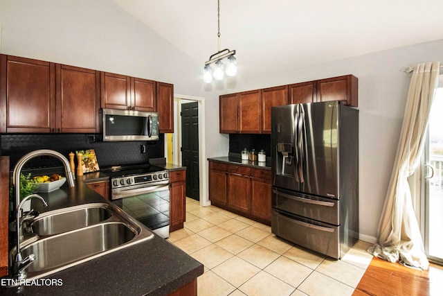
[[[271,134],[271,107],[287,105],[288,86],[262,89],[262,133]]]

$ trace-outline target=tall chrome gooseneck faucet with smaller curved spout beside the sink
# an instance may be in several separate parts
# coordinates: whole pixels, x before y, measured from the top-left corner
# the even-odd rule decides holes
[[[40,200],[42,200],[45,207],[47,206],[44,199],[40,195],[37,195],[37,194],[28,195],[28,196],[26,196],[26,198],[24,198],[24,200],[22,200],[20,202],[21,169],[26,164],[26,162],[28,162],[30,159],[33,159],[34,157],[38,157],[38,156],[43,156],[43,155],[53,156],[57,159],[60,159],[60,161],[63,163],[64,171],[66,173],[66,179],[68,180],[69,186],[70,187],[75,186],[74,175],[71,171],[71,166],[69,165],[68,159],[66,159],[66,157],[64,157],[61,153],[58,153],[57,151],[49,150],[49,149],[35,150],[35,151],[32,151],[32,152],[24,155],[23,157],[21,157],[21,159],[19,159],[19,161],[15,165],[14,173],[12,173],[12,184],[14,185],[14,189],[15,189],[15,205],[17,207],[16,213],[15,213],[16,214],[15,224],[16,224],[16,230],[17,230],[17,255],[15,256],[15,261],[12,265],[12,272],[14,273],[15,276],[21,277],[21,279],[26,277],[23,270],[26,267],[28,267],[28,265],[35,260],[35,256],[33,256],[33,255],[30,255],[30,256],[26,257],[25,259],[21,258],[21,254],[20,254],[20,224],[21,224],[20,223],[20,210],[21,210],[21,206],[23,205],[24,201],[29,200],[30,198],[39,198]]]

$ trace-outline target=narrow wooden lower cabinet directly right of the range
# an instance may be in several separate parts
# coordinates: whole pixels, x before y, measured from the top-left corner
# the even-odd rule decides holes
[[[170,171],[170,225],[169,231],[183,228],[186,221],[186,171]]]

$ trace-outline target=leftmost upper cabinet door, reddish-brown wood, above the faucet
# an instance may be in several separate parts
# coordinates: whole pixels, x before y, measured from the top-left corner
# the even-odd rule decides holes
[[[0,132],[51,132],[55,128],[55,64],[1,55],[0,72]]]

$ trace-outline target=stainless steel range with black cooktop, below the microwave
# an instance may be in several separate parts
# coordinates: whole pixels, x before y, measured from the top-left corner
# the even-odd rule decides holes
[[[103,170],[102,170],[103,171]],[[114,166],[111,202],[163,238],[169,237],[169,173],[150,165]]]

